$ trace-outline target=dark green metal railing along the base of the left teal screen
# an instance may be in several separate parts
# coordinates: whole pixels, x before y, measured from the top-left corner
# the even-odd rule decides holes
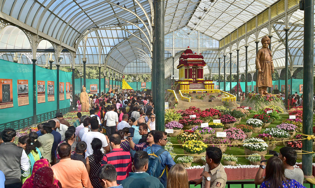
[[[65,113],[70,112],[71,108],[72,107],[63,108],[63,109],[60,109],[59,111],[62,114],[65,114]],[[36,115],[37,122],[40,123],[40,122],[46,121],[48,119],[54,118],[56,115],[56,112],[57,112],[57,110],[54,110],[51,112],[46,112],[46,113]],[[3,129],[6,129],[6,128],[12,128],[14,130],[19,130],[19,129],[23,129],[24,127],[29,126],[31,124],[34,124],[33,117],[28,117],[28,118],[24,118],[24,119],[15,120],[15,121],[10,121],[7,123],[0,124],[0,131],[2,131]]]

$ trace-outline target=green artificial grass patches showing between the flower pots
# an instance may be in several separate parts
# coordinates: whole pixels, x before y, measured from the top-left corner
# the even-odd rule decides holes
[[[249,119],[249,118],[253,118],[253,116],[254,116],[254,114],[250,114],[246,119],[242,119],[239,124],[246,124],[246,120]],[[286,119],[289,118],[289,114],[280,114],[280,116],[281,116],[281,119],[280,120],[275,120],[273,123],[271,123],[269,125],[269,127],[276,127],[278,124],[282,123],[282,120],[286,120]],[[315,122],[315,116],[313,116],[313,121]],[[235,125],[234,125],[234,127],[235,127]],[[261,133],[264,130],[265,129],[261,129]],[[259,133],[259,134],[261,134],[261,133]],[[252,137],[255,137],[255,136],[259,135],[259,134],[258,133],[256,133],[256,134],[253,133]],[[299,134],[299,133],[297,132],[296,134]],[[175,137],[170,137],[170,138],[171,138],[171,142],[173,144],[178,144],[178,142],[177,142]],[[177,153],[177,154],[184,154],[184,150],[182,149],[182,147],[180,145],[173,145],[173,147],[174,147],[174,152],[175,153]],[[284,147],[284,146],[276,146],[274,151],[279,152],[281,147]],[[241,146],[241,147],[229,147],[228,146],[225,153],[226,154],[233,154],[233,155],[245,155],[243,146]],[[174,161],[176,162],[176,159],[178,157],[182,157],[182,156],[183,155],[177,155]],[[270,156],[266,156],[266,159],[268,159],[268,158],[270,158]],[[300,162],[302,162],[302,160],[296,160],[296,162],[300,163]],[[223,163],[223,160],[221,160],[221,163]],[[247,160],[245,157],[238,157],[237,164],[249,165],[250,163],[249,163],[249,160]],[[192,166],[197,166],[197,165],[202,166],[203,164],[202,163],[192,163]]]

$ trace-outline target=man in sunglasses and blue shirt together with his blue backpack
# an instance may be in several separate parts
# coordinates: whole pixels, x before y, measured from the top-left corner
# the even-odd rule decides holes
[[[167,133],[157,131],[153,135],[154,144],[143,151],[149,154],[148,174],[160,179],[164,187],[167,183],[168,170],[175,165],[175,162],[168,151],[163,149],[167,142]]]

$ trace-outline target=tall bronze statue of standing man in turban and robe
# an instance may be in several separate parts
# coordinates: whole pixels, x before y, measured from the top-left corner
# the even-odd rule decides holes
[[[268,94],[267,88],[272,87],[271,73],[274,73],[272,53],[268,48],[270,38],[264,36],[261,39],[262,48],[258,50],[256,55],[256,69],[258,70],[256,87],[260,95]]]

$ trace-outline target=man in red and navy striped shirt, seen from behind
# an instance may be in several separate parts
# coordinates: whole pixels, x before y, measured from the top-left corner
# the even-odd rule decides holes
[[[121,140],[119,135],[111,135],[109,141],[113,146],[113,150],[104,155],[101,166],[104,164],[114,165],[117,171],[117,184],[120,184],[131,172],[131,156],[129,152],[125,152],[120,148]]]

